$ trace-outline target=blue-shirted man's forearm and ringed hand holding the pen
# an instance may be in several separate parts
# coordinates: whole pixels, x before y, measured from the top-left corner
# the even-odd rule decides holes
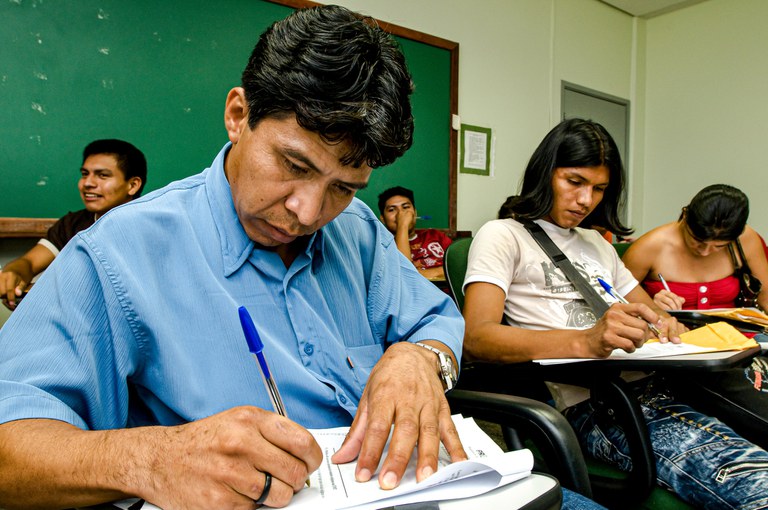
[[[55,420],[0,425],[0,506],[81,507],[138,496],[165,510],[287,505],[322,461],[312,435],[256,407],[175,427],[83,431]],[[21,502],[21,505],[19,505]]]

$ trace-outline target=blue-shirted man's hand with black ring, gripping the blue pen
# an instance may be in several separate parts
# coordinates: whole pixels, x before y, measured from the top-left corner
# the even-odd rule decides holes
[[[159,430],[153,490],[142,497],[168,510],[251,509],[264,488],[264,473],[272,475],[265,505],[282,507],[322,461],[306,429],[255,407]]]

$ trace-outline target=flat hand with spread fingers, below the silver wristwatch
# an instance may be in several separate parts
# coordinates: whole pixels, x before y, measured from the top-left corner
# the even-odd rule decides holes
[[[373,368],[349,434],[331,460],[343,464],[357,458],[355,477],[367,482],[379,466],[393,424],[379,472],[382,489],[397,487],[417,444],[418,481],[437,470],[441,440],[452,462],[467,458],[437,375],[437,356],[408,342],[388,348]]]

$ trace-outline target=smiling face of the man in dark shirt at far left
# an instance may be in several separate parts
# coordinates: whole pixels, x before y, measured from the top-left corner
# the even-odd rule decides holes
[[[112,154],[88,156],[80,168],[77,183],[85,208],[97,216],[131,200],[140,187],[138,177],[125,179]]]

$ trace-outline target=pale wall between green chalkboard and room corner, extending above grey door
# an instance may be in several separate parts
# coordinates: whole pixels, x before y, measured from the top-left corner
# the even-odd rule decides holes
[[[327,2],[330,3],[330,2]],[[458,228],[477,229],[516,193],[560,118],[560,81],[632,100],[634,19],[597,0],[335,0],[459,43],[459,114],[493,129],[495,175],[459,174]]]

